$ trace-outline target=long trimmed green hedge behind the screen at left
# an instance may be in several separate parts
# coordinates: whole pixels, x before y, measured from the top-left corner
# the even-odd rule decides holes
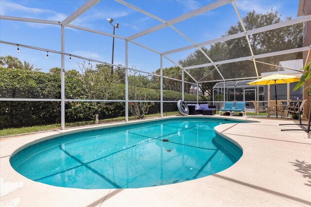
[[[80,74],[75,70],[66,71],[65,96],[67,99],[83,99],[81,95]],[[6,69],[0,67],[0,98],[35,98],[35,99],[60,99],[61,83],[60,74],[22,69]],[[129,90],[131,88],[129,87]],[[160,90],[137,88],[139,94],[146,94],[147,100],[160,100]],[[109,99],[124,100],[125,86],[122,83],[113,87],[113,94]],[[129,91],[129,99],[131,99]],[[164,101],[177,101],[182,93],[163,90]],[[186,101],[196,101],[196,96],[185,94]],[[199,96],[199,101],[207,101],[204,96]],[[89,102],[66,102],[65,118],[67,122],[89,120],[87,107]],[[124,103],[103,103],[104,108],[100,119],[124,116]],[[82,107],[83,106],[83,107]],[[60,102],[0,102],[0,129],[8,127],[32,126],[60,122]],[[164,111],[175,111],[176,103],[165,103]],[[158,113],[160,104],[155,103],[149,109],[149,114]]]

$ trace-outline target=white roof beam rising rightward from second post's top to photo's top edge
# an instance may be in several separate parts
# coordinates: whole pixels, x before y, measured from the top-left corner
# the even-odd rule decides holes
[[[203,6],[203,7],[199,8],[199,9],[193,10],[193,11],[187,13],[187,14],[184,14],[184,15],[181,15],[179,17],[173,18],[173,19],[167,21],[166,23],[162,23],[162,24],[156,25],[156,26],[151,27],[151,28],[149,28],[147,30],[139,32],[139,33],[137,33],[135,35],[131,35],[131,36],[127,37],[126,39],[132,40],[132,39],[138,38],[140,36],[147,35],[149,33],[152,33],[152,32],[155,32],[157,30],[163,29],[165,27],[168,27],[170,25],[173,25],[175,23],[178,23],[178,22],[183,21],[185,19],[188,19],[190,17],[194,17],[194,16],[200,15],[202,13],[205,13],[207,11],[210,11],[212,9],[215,9],[217,7],[223,6],[223,5],[227,4],[227,3],[230,3],[231,1],[232,0],[219,0],[219,1],[207,4],[206,6]]]

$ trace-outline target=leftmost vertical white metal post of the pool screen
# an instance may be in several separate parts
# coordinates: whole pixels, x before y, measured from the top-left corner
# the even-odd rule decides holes
[[[65,28],[61,26],[61,128],[65,129]]]

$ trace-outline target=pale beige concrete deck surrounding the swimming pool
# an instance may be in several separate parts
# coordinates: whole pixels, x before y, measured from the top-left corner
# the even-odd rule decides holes
[[[219,115],[212,117],[232,118]],[[296,120],[261,117],[234,119],[257,122],[215,127],[217,133],[237,142],[243,149],[241,159],[233,166],[196,180],[140,189],[82,190],[54,187],[25,178],[9,163],[10,156],[17,149],[35,140],[79,129],[96,128],[94,126],[1,138],[1,207],[311,206],[311,134],[304,131],[280,131],[300,129],[294,125],[278,125],[297,123]]]

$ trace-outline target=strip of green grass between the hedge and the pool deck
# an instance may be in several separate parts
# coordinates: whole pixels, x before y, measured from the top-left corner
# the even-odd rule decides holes
[[[167,112],[168,116],[178,115],[178,111],[173,112]],[[219,114],[219,111],[216,111],[216,114]],[[253,112],[247,112],[248,116],[254,115]],[[163,116],[166,116],[166,113],[163,113]],[[259,113],[259,116],[266,116],[266,113]],[[160,117],[160,113],[157,114],[148,114],[145,116],[145,119]],[[129,120],[136,120],[135,117],[131,116],[129,117]],[[99,123],[112,123],[112,122],[122,122],[125,121],[125,117],[117,117],[117,118],[111,118],[111,119],[104,119],[100,120]],[[76,121],[76,122],[66,122],[65,127],[77,127],[77,126],[86,126],[86,125],[92,125],[94,124],[94,121]],[[42,131],[48,131],[48,130],[56,130],[60,129],[61,124],[55,123],[55,124],[49,124],[49,125],[38,125],[38,126],[26,126],[26,127],[20,127],[20,128],[7,128],[7,129],[1,129],[0,130],[0,137],[3,136],[10,136],[10,135],[20,135],[20,134],[26,134],[26,133],[32,133],[32,132],[42,132]]]

